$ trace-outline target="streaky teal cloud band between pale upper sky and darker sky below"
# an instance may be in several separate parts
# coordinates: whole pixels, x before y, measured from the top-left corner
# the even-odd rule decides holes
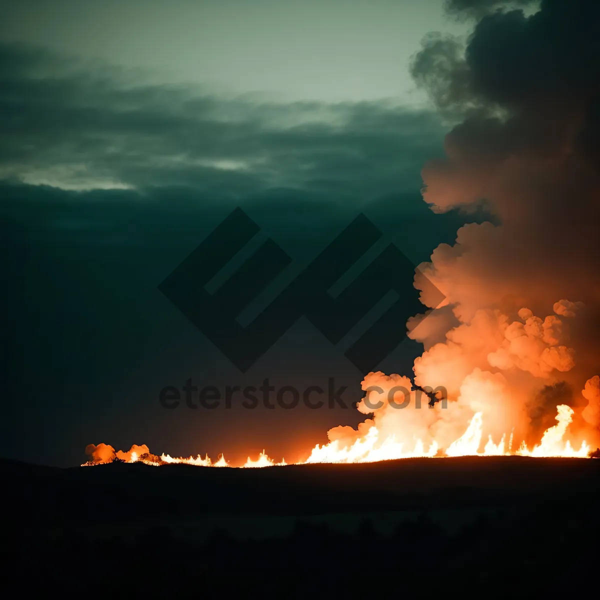
[[[283,186],[365,200],[417,188],[443,131],[431,113],[389,103],[223,98],[92,67],[0,47],[2,175],[78,187],[188,185],[237,199]]]

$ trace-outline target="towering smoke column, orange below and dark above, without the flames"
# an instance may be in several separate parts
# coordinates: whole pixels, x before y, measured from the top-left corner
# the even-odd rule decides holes
[[[535,443],[566,404],[572,439],[596,443],[600,2],[545,0],[535,11],[526,1],[451,0],[446,8],[473,19],[473,32],[466,47],[428,35],[413,61],[415,80],[459,123],[446,158],[422,171],[424,199],[434,212],[482,207],[493,221],[461,227],[416,271],[429,310],[408,323],[425,347],[415,383],[444,386],[448,405],[373,410],[382,395],[368,391],[369,406],[358,408],[372,418],[329,439],[344,446],[375,426],[380,439],[444,446],[481,412],[485,437]],[[362,385],[411,389],[409,379],[382,373]]]

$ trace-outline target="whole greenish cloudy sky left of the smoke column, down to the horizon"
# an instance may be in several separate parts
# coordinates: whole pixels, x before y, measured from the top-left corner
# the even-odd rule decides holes
[[[468,23],[441,2],[51,5],[0,8],[0,455],[71,466],[104,442],[294,461],[356,425],[365,373],[348,340],[302,317],[242,373],[158,285],[236,206],[292,259],[275,292],[361,212],[378,248],[415,266],[451,242],[476,217],[422,200],[452,118],[415,92],[409,62],[429,31]],[[400,338],[377,368],[410,374],[419,353]],[[160,390],[190,377],[220,390],[334,377],[349,409],[164,409]]]

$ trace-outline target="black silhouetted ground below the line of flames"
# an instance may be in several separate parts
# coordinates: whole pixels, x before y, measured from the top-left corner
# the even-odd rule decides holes
[[[598,589],[600,460],[214,469],[0,461],[2,581],[78,596]]]

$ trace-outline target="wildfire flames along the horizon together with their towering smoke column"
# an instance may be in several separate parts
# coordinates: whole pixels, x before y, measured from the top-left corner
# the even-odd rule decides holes
[[[497,11],[485,26],[473,29],[464,55],[460,46],[445,40],[443,52],[451,49],[452,61],[439,60],[439,41],[424,42],[416,55],[412,74],[434,104],[452,108],[457,116],[464,111],[462,122],[445,138],[446,156],[422,169],[424,200],[435,213],[467,215],[475,214],[469,207],[479,209],[485,199],[483,212],[490,218],[465,222],[452,243],[437,245],[430,260],[415,269],[413,287],[424,311],[406,326],[408,337],[424,350],[413,363],[413,381],[368,373],[362,382],[367,396],[358,404],[368,418],[356,430],[330,430],[329,442],[314,446],[303,463],[465,455],[586,457],[590,446],[580,442],[575,448],[574,440],[600,441],[600,376],[593,375],[600,277],[598,261],[589,258],[596,256],[600,217],[597,156],[590,152],[589,136],[597,113],[588,110],[590,98],[597,97],[597,79],[579,77],[572,85],[574,65],[585,70],[587,63],[574,54],[572,64],[554,65],[540,35],[553,39],[559,5],[575,3],[542,4],[541,13],[530,16]],[[591,15],[582,19],[591,22]],[[568,11],[565,19],[571,22]],[[536,74],[527,86],[511,73],[514,36],[538,44],[522,56],[521,72]],[[573,48],[590,55],[592,46],[579,42]],[[544,60],[556,68],[548,69]],[[552,307],[551,314],[534,313],[544,306]],[[585,383],[584,374],[590,377]],[[584,389],[574,402],[575,415],[565,402],[580,385]],[[447,392],[447,410],[436,402],[431,410],[395,410],[394,394],[385,401],[370,391],[413,389],[410,401],[418,408],[416,391],[436,386]],[[371,410],[371,400],[377,409]],[[530,425],[549,416],[548,407],[556,407],[557,423],[529,448]],[[115,457],[105,444],[90,446],[87,454],[91,460],[86,464]],[[116,458],[227,464],[222,457],[215,464],[208,456],[158,457],[145,446],[116,452]],[[263,451],[240,466],[276,464],[284,461],[275,463]]]

